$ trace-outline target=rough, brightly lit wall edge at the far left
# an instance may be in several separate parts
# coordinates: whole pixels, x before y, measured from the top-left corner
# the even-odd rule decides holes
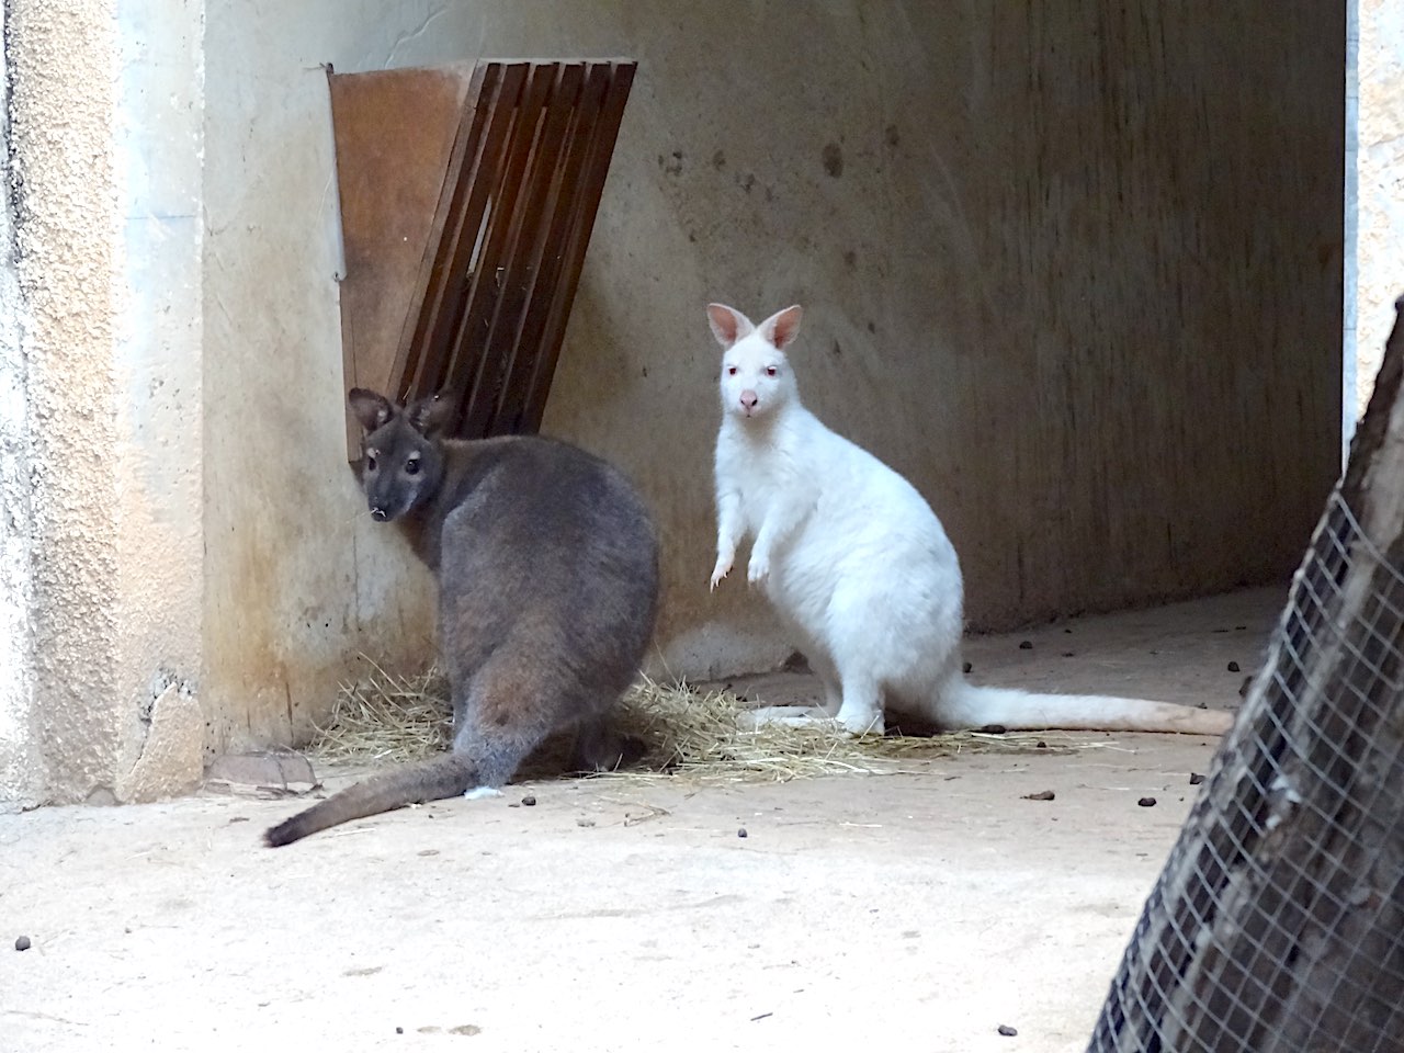
[[[201,775],[202,8],[14,0],[6,15],[18,500],[0,587],[24,629],[0,799],[140,800]]]

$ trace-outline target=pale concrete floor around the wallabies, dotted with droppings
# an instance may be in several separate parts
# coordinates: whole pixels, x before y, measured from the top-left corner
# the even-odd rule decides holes
[[[970,640],[972,677],[1237,705],[1283,598]],[[541,781],[278,851],[295,800],[0,816],[0,1049],[1082,1050],[1214,744],[1073,740],[1099,746]]]

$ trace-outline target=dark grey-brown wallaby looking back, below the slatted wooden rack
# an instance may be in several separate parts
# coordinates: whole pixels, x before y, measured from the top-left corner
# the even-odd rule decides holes
[[[535,435],[442,438],[446,400],[397,409],[361,388],[348,399],[365,430],[371,517],[395,522],[438,578],[453,746],[299,812],[264,834],[270,845],[500,788],[571,727],[580,768],[612,767],[621,744],[608,710],[637,674],[657,612],[657,536],[619,470]]]

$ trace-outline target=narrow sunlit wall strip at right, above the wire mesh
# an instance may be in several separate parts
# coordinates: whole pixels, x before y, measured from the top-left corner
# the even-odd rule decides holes
[[[1353,336],[1355,414],[1375,390],[1394,300],[1404,293],[1404,8],[1352,0],[1358,34],[1355,125],[1355,258],[1348,314]],[[1352,295],[1353,293],[1353,295]],[[1348,407],[1348,413],[1352,407]]]

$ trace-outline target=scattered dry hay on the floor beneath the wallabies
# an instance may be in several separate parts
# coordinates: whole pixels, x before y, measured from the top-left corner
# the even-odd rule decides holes
[[[330,764],[403,764],[448,748],[453,719],[445,678],[437,670],[396,677],[373,663],[372,668],[365,680],[341,685],[331,720],[319,729],[312,746],[313,755]],[[615,717],[618,730],[637,740],[642,757],[608,775],[783,782],[826,774],[914,771],[904,765],[970,751],[1066,753],[1109,746],[1053,731],[852,739],[824,726],[751,727],[744,720],[751,708],[730,691],[643,680],[625,695]],[[548,743],[522,775],[559,774],[567,757],[569,737]]]

